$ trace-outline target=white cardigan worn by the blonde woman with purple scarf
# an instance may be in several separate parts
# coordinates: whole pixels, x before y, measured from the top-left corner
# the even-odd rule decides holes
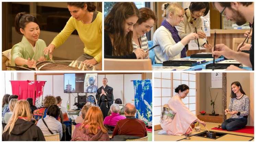
[[[164,26],[155,31],[153,44],[160,45],[154,48],[156,63],[181,58],[181,51],[185,47],[181,42],[176,43],[171,32]]]

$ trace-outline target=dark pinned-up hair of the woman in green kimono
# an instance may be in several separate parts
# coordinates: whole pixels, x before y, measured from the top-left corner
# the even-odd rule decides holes
[[[14,26],[17,33],[23,35],[20,31],[20,28],[24,30],[27,23],[35,22],[39,26],[37,18],[31,14],[26,14],[25,12],[20,12],[15,16]]]

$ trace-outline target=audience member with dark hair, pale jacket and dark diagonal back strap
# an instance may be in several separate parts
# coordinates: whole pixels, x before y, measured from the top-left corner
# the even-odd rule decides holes
[[[57,105],[51,105],[47,109],[46,117],[41,118],[37,122],[37,126],[42,130],[44,135],[59,133],[60,140],[62,138],[62,125],[58,121],[60,108]]]

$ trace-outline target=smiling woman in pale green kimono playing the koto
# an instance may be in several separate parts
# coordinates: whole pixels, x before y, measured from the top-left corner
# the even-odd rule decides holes
[[[38,39],[40,34],[39,23],[36,17],[25,12],[15,17],[15,30],[22,34],[20,43],[11,50],[11,66],[34,67],[36,62],[48,60],[44,56],[45,42]]]

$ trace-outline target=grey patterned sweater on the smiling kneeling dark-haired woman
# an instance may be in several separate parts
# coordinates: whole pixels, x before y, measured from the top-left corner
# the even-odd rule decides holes
[[[250,100],[247,95],[243,95],[240,99],[231,98],[229,103],[229,112],[237,111],[240,115],[233,114],[230,118],[243,118],[249,115],[250,111]]]

